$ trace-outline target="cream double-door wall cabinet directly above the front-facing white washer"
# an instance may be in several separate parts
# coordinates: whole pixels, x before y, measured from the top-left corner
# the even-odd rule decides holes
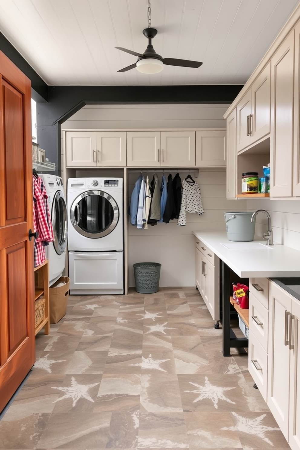
[[[126,166],[126,132],[66,131],[66,166]]]

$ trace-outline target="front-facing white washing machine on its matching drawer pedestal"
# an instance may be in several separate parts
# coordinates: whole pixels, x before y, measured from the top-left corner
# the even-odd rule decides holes
[[[70,294],[124,293],[122,178],[69,178]]]

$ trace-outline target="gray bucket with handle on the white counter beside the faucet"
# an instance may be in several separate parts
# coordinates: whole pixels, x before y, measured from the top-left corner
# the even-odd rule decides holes
[[[253,241],[255,232],[255,217],[251,222],[252,212],[224,212],[227,238],[229,241]]]

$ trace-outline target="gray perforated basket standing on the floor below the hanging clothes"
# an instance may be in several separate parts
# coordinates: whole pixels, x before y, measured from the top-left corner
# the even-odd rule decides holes
[[[161,264],[159,262],[137,262],[133,265],[136,292],[152,294],[158,291]]]

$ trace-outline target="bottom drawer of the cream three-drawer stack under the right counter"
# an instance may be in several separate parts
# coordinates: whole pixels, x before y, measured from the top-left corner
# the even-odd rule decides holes
[[[254,379],[256,386],[259,388],[260,393],[267,401],[267,380],[268,380],[268,355],[261,347],[254,334],[249,329],[249,359],[248,370],[251,377]]]

